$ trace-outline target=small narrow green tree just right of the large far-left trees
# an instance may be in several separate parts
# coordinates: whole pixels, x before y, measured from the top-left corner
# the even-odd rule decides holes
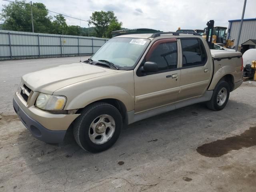
[[[66,19],[63,15],[54,16],[54,21],[52,22],[52,33],[54,34],[67,34],[68,25]]]

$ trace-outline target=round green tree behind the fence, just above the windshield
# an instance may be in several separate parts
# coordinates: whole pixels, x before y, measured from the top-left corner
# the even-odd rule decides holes
[[[110,37],[111,30],[118,30],[122,26],[122,22],[118,22],[113,11],[95,11],[90,19],[98,37]]]

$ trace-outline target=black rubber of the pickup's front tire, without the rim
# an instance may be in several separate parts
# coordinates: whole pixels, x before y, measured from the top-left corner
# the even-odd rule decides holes
[[[109,115],[114,119],[115,130],[112,137],[103,144],[95,144],[89,137],[91,123],[100,115]],[[91,104],[82,110],[81,115],[74,123],[74,138],[77,144],[84,150],[92,153],[101,152],[110,148],[118,139],[122,130],[122,116],[114,106],[98,102]]]

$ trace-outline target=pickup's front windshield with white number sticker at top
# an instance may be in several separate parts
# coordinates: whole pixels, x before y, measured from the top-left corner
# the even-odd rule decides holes
[[[149,39],[112,38],[92,57],[93,61],[105,60],[121,70],[131,70],[148,46]]]

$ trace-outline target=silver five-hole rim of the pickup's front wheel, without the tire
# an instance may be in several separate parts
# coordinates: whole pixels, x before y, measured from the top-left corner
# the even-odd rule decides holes
[[[96,117],[89,128],[89,138],[95,144],[104,144],[112,138],[116,124],[110,115],[100,115]]]

